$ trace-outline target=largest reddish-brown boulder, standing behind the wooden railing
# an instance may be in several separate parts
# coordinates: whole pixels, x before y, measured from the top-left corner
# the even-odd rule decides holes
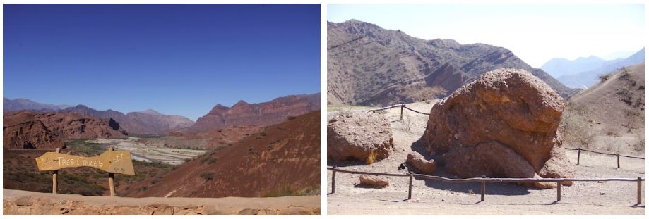
[[[435,104],[422,139],[460,177],[573,177],[556,132],[566,105],[525,70],[493,70]]]

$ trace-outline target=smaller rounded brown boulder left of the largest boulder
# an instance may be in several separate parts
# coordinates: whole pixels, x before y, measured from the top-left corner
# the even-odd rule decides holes
[[[327,157],[335,161],[356,158],[374,163],[394,150],[392,129],[378,113],[346,113],[327,124]]]

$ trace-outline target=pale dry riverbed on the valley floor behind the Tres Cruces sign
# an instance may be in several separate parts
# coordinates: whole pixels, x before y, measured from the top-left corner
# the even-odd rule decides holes
[[[137,142],[138,138],[126,139],[95,139],[88,142],[110,144],[117,146],[116,151],[131,151],[131,157],[136,161],[159,161],[171,165],[181,165],[186,159],[196,158],[208,151],[194,149],[174,149],[162,145],[147,145]]]

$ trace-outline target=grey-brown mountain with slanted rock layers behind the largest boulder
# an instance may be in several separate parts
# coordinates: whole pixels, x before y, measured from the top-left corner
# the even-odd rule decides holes
[[[394,104],[436,86],[451,94],[498,68],[528,70],[566,99],[578,92],[502,47],[417,39],[359,20],[327,23],[327,104]]]

